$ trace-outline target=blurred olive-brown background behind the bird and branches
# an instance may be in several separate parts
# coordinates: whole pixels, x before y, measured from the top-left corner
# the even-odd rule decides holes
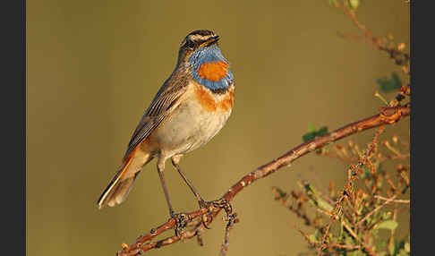
[[[392,33],[409,46],[405,1],[365,0],[358,12],[374,35]],[[98,210],[96,201],[173,71],[181,40],[198,29],[221,36],[236,80],[224,129],[181,162],[207,200],[300,144],[309,124],[334,130],[375,115],[383,104],[374,81],[397,70],[385,53],[337,37],[358,30],[327,0],[27,1],[28,255],[115,255],[168,218],[155,161],[123,204]],[[363,145],[373,132],[352,139]],[[409,119],[388,126],[392,133],[408,138]],[[271,187],[291,190],[299,179],[342,185],[345,167],[311,154],[240,193],[229,255],[308,252],[294,229],[303,222],[273,201]],[[166,183],[176,210],[197,208],[172,166]],[[217,255],[224,225],[212,224],[203,247],[190,240],[151,253]]]

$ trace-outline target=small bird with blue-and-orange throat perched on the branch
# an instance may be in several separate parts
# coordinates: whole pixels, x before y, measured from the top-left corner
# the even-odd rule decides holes
[[[235,78],[212,30],[194,30],[183,38],[174,71],[141,116],[121,165],[98,198],[98,209],[125,201],[142,167],[157,158],[157,170],[169,215],[176,213],[165,183],[171,159],[200,207],[207,206],[183,174],[180,159],[209,142],[226,124],[235,103]]]

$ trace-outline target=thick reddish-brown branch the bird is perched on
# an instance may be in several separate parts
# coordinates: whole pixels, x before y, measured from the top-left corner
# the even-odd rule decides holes
[[[241,192],[245,187],[250,185],[257,180],[267,177],[275,173],[278,169],[289,166],[297,158],[316,150],[323,146],[328,145],[334,141],[338,141],[347,136],[350,136],[356,132],[362,132],[368,129],[378,127],[383,124],[395,124],[397,121],[401,120],[403,117],[410,115],[410,107],[385,107],[380,110],[379,115],[373,115],[371,117],[362,119],[361,121],[347,124],[336,131],[329,132],[323,136],[316,137],[311,141],[306,141],[303,144],[289,150],[283,156],[270,161],[269,163],[258,167],[251,173],[244,175],[237,183],[235,183],[223,196],[222,199],[226,201],[232,201],[239,192]],[[212,215],[216,217],[222,208],[210,205],[209,209],[198,209],[191,213],[188,213],[191,219],[201,218],[204,215]],[[209,225],[213,221],[213,218],[208,218],[206,224]],[[151,242],[156,236],[162,234],[163,232],[174,228],[175,219],[170,218],[166,223],[158,226],[158,228],[152,229],[147,235],[141,235],[136,239],[135,243],[131,246],[125,246],[123,251],[118,252],[119,256],[131,256],[138,255],[142,252],[149,251],[150,249],[160,248],[161,246],[166,246],[172,243],[180,241],[177,236],[168,237],[166,239],[160,240],[158,242]],[[192,230],[188,230],[183,235],[183,239],[190,239],[194,237],[198,230],[202,230],[204,227],[201,224],[195,225]]]

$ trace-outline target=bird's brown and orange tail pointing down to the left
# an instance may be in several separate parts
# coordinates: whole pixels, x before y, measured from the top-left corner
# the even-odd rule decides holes
[[[141,173],[142,166],[151,160],[149,155],[134,156],[134,154],[135,152],[133,151],[132,156],[119,166],[115,176],[99,196],[97,201],[98,209],[102,209],[105,205],[113,207],[122,203],[132,190],[132,185],[136,177]]]

